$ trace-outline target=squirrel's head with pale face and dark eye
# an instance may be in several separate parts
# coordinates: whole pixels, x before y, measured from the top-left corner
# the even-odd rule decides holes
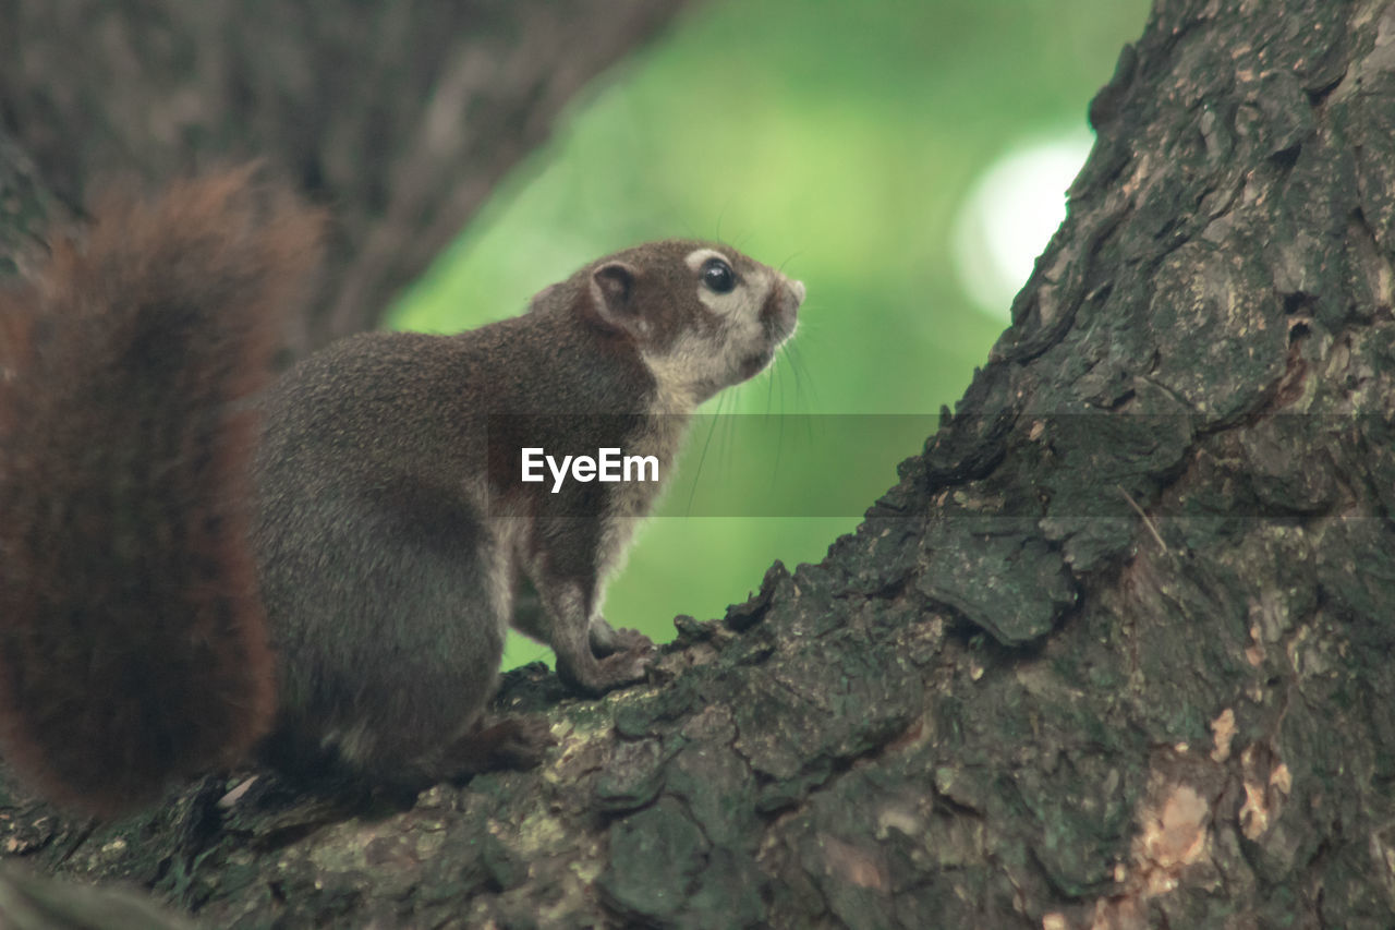
[[[635,346],[674,412],[764,370],[804,302],[804,283],[774,268],[682,239],[607,256],[565,283],[587,323]]]

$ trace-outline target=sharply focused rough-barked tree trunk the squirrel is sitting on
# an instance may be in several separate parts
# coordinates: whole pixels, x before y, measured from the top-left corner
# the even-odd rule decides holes
[[[1389,926],[1395,6],[1159,0],[956,415],[557,754],[8,849],[209,926]]]

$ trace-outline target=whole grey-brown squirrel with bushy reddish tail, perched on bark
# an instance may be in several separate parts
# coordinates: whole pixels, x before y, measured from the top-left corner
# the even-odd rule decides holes
[[[653,644],[600,603],[661,482],[525,482],[520,452],[665,475],[804,302],[727,246],[654,242],[520,316],[276,378],[324,216],[254,173],[109,198],[0,290],[0,755],[84,813],[248,757],[388,786],[538,761],[538,723],[485,715],[505,633],[578,693],[644,680]]]

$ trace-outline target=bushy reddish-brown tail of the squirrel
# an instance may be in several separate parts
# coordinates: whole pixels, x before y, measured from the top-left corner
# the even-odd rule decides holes
[[[109,198],[0,292],[0,753],[78,810],[236,761],[275,709],[244,399],[321,219],[251,173]]]

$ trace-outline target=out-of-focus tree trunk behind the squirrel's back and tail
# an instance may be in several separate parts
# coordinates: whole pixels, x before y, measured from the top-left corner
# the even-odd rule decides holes
[[[0,0],[0,121],[70,207],[251,158],[331,205],[326,286],[287,321],[299,355],[372,328],[682,3]]]

